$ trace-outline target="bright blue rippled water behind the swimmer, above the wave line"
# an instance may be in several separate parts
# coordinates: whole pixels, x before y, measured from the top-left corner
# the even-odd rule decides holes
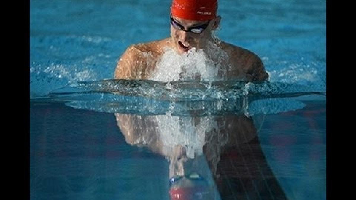
[[[30,95],[112,78],[130,44],[169,36],[170,3],[31,0]],[[217,35],[260,56],[271,81],[326,90],[326,1],[225,0],[218,12]]]

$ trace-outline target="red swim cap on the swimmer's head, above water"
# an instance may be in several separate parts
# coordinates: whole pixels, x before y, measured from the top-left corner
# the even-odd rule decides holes
[[[218,0],[173,0],[171,13],[185,20],[206,21],[214,19]]]

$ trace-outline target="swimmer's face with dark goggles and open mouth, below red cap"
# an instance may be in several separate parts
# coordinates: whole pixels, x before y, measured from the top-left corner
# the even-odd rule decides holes
[[[172,16],[172,20],[171,38],[174,48],[178,53],[184,53],[193,47],[197,50],[204,49],[208,41],[211,40],[211,32],[218,28],[220,16],[210,21],[185,20],[174,16]],[[184,30],[182,30],[183,28]],[[199,29],[204,30],[201,33],[194,33]]]

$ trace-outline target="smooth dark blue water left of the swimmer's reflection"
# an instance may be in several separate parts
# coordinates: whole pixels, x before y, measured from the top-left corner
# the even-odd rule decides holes
[[[31,102],[31,199],[167,199],[168,162],[130,146],[113,114]]]

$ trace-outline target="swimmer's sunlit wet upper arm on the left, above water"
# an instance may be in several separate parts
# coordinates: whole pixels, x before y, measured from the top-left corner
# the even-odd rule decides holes
[[[138,70],[138,60],[140,59],[140,54],[138,49],[131,45],[126,49],[124,54],[117,62],[116,69],[114,72],[115,79],[137,79]]]

